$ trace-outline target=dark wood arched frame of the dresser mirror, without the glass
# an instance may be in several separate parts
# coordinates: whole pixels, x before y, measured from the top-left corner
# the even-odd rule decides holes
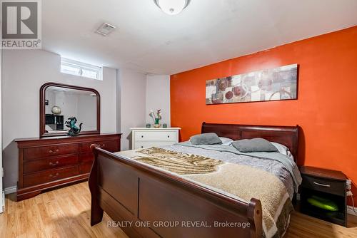
[[[71,86],[62,83],[45,83],[40,88],[40,137],[50,137],[50,136],[61,136],[67,135],[67,133],[56,133],[54,135],[46,134],[45,124],[46,124],[46,110],[45,110],[45,99],[46,99],[46,89],[49,87],[59,87],[59,88],[69,88],[76,90],[84,90],[96,93],[96,130],[88,130],[79,133],[79,135],[91,135],[91,134],[100,134],[101,133],[101,95],[94,88],[84,88],[79,86]]]

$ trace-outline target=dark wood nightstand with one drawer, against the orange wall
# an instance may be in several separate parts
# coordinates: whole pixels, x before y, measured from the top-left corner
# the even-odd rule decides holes
[[[301,212],[335,224],[347,226],[346,176],[341,171],[324,170],[318,167],[300,167],[303,182],[300,187]],[[331,200],[338,211],[331,212],[311,205],[312,196]]]

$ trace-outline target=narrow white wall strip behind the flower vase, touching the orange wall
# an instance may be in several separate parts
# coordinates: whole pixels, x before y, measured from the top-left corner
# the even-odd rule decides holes
[[[150,110],[161,109],[161,125],[170,126],[170,76],[147,76],[146,80],[146,123],[153,124]]]

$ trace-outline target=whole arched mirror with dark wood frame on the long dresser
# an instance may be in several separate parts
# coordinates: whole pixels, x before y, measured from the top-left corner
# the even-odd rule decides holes
[[[40,136],[67,135],[76,118],[79,135],[100,133],[100,95],[93,88],[45,83],[40,90]]]

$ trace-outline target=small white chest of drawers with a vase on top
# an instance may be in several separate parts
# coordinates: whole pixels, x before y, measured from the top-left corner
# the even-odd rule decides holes
[[[178,143],[178,131],[181,128],[130,128],[132,131],[132,149],[150,148]]]

